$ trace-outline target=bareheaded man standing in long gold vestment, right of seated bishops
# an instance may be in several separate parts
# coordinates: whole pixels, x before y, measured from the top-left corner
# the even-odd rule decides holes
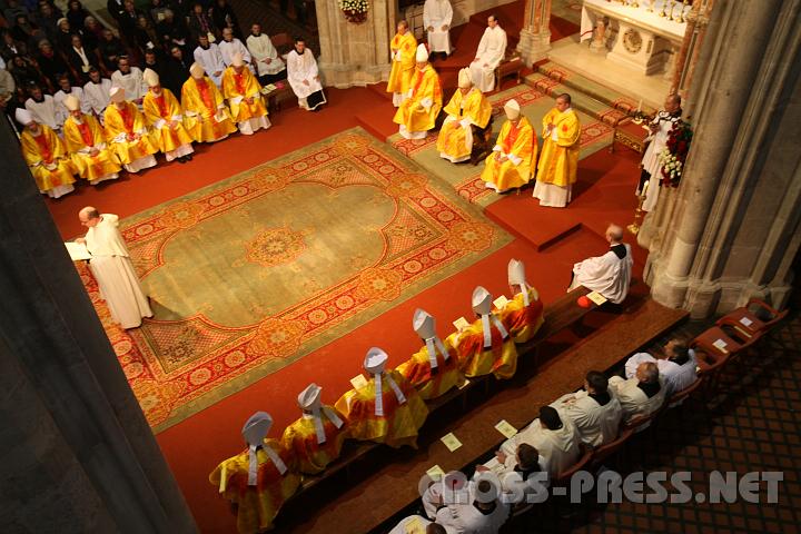
[[[556,107],[543,117],[543,151],[534,186],[540,206],[564,208],[571,201],[580,146],[581,122],[565,92],[556,97]]]

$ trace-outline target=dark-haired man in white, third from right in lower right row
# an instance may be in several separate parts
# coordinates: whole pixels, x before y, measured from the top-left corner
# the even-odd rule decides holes
[[[568,393],[551,404],[561,418],[570,419],[583,443],[600,447],[617,437],[623,408],[609,387],[609,380],[597,370],[584,379],[584,389]]]

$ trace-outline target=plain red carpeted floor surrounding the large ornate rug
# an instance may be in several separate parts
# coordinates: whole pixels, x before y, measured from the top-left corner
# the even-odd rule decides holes
[[[501,16],[506,20],[520,20],[522,12],[514,11],[520,3],[504,6]],[[510,19],[514,13],[517,18]],[[560,19],[554,20],[564,27],[552,29],[556,38],[560,31],[575,28],[574,24],[567,28]],[[461,31],[479,30],[477,24],[466,24]],[[472,40],[477,41],[477,37],[473,36],[467,42]],[[459,47],[457,55],[448,61],[455,62],[463,53],[468,61],[472,51],[462,48],[467,47]],[[250,137],[236,135],[216,145],[199,146],[195,160],[187,165],[162,164],[138,176],[126,175],[97,188],[85,186],[62,199],[48,200],[53,219],[65,238],[73,237],[82,231],[77,212],[87,205],[126,217],[353,126],[363,126],[379,139],[396,130],[390,121],[392,103],[380,91],[353,88],[327,92],[329,105],[322,112],[308,113],[290,108],[273,113],[270,130]],[[487,215],[517,236],[512,244],[349,335],[160,433],[157,439],[200,531],[236,532],[228,505],[218,497],[207,476],[217,462],[243,448],[241,424],[255,411],[264,409],[274,416],[271,436],[278,436],[286,424],[299,416],[295,399],[309,382],[322,385],[324,402],[333,404],[349,388],[349,378],[360,372],[364,354],[370,346],[386,349],[390,365],[400,363],[418,348],[419,339],[411,327],[415,308],[425,308],[437,317],[444,335],[452,320],[462,315],[469,316],[469,296],[476,285],[483,285],[494,294],[507,291],[506,264],[510,258],[525,261],[528,281],[537,287],[546,304],[562,295],[573,263],[604,251],[606,244],[602,235],[606,225],[611,221],[625,225],[631,220],[637,177],[635,156],[625,150],[611,156],[602,150],[582,160],[580,182],[568,209],[541,208],[531,198],[531,189],[495,202]],[[643,258],[644,251],[636,250],[637,277]]]

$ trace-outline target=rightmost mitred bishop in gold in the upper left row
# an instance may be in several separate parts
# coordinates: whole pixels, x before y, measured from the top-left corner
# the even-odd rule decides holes
[[[234,55],[230,67],[222,73],[222,96],[228,100],[234,121],[241,134],[250,136],[273,126],[261,98],[261,85],[247,68],[240,53]]]

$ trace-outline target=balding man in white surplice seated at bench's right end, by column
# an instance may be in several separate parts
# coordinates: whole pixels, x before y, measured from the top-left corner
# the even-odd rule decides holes
[[[621,304],[629,295],[631,269],[634,259],[631,246],[623,243],[623,228],[610,225],[606,228],[610,251],[578,261],[573,266],[573,281],[567,290],[584,286],[597,291],[614,304]]]

